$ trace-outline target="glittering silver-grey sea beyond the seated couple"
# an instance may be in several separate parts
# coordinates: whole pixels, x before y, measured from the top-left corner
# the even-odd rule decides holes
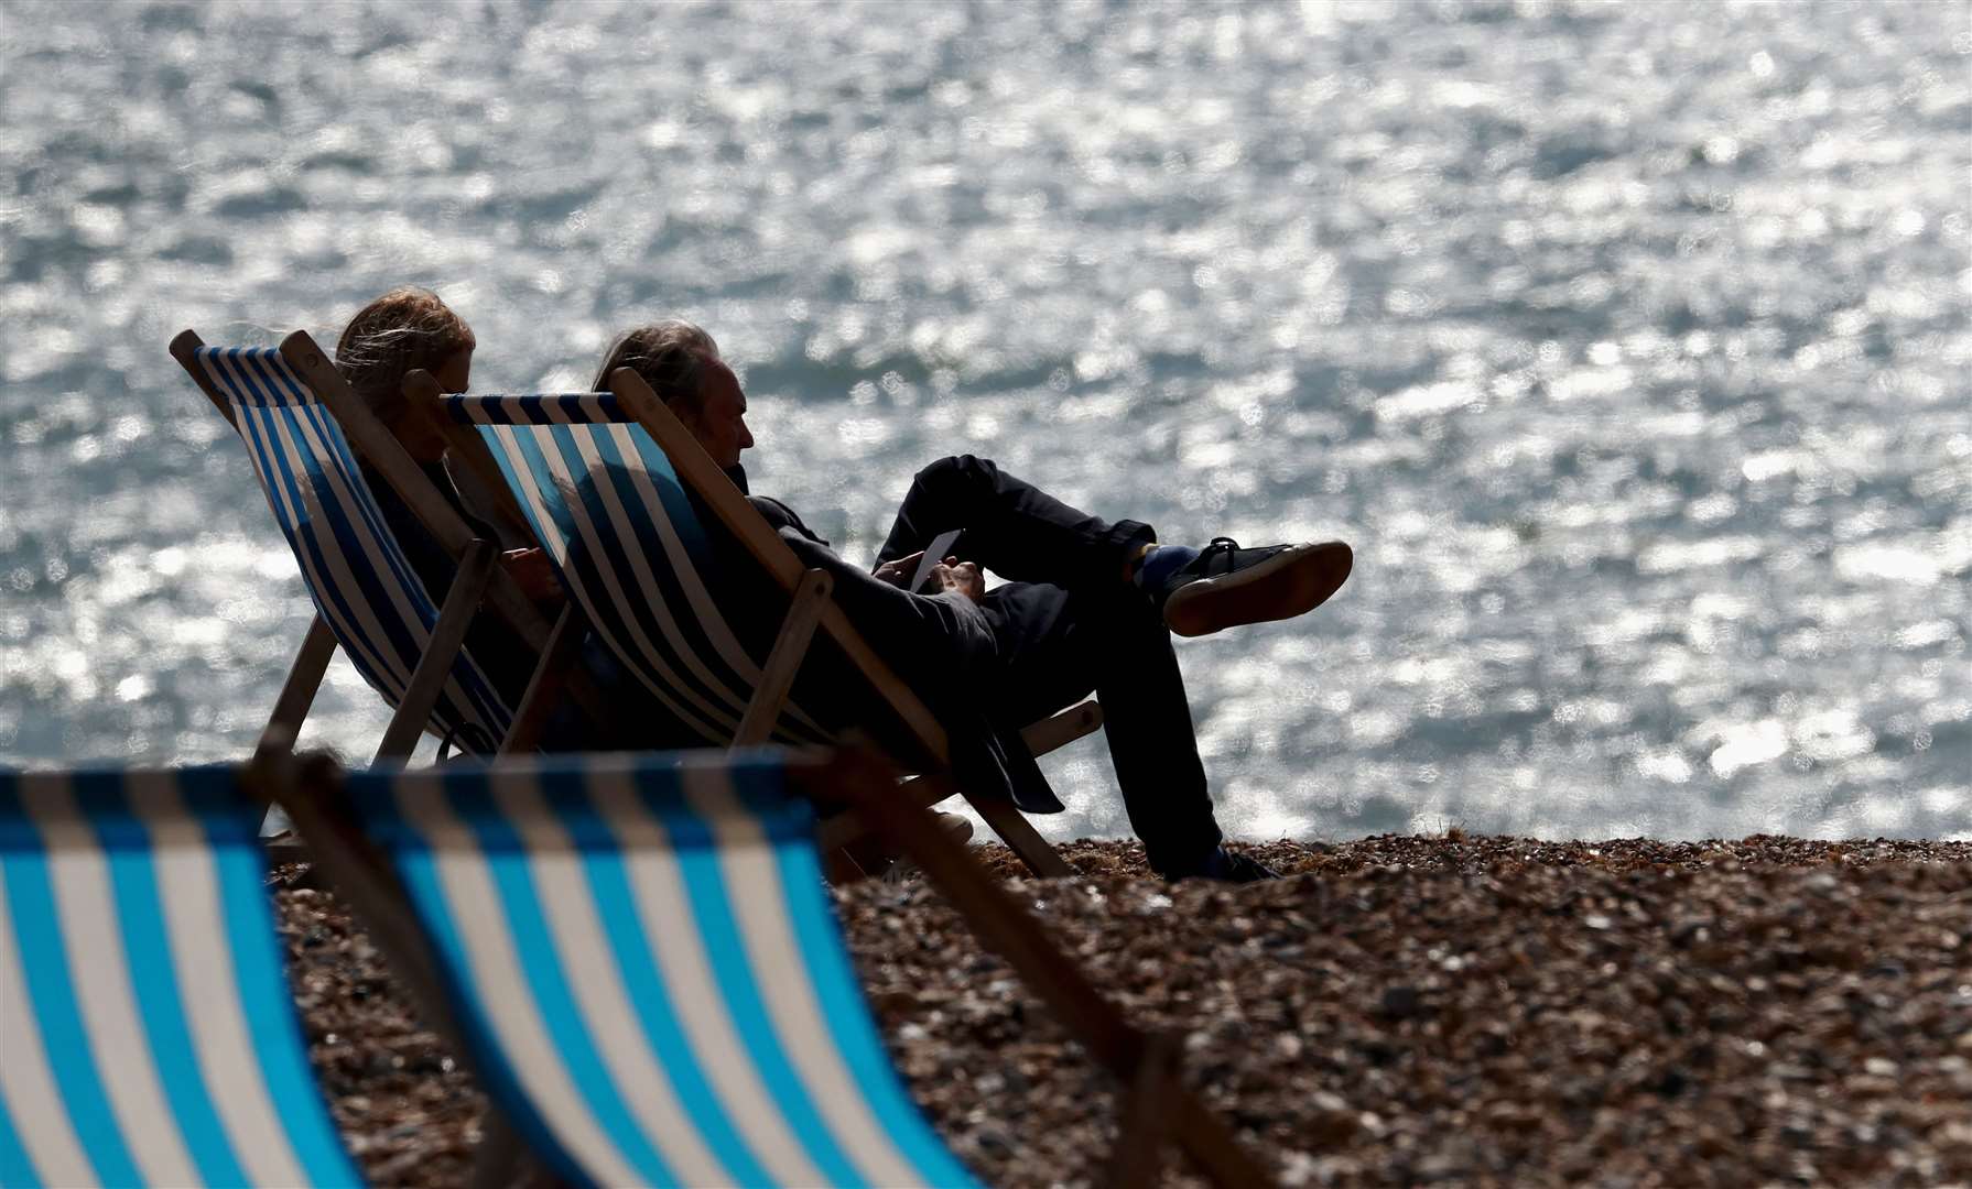
[[[854,560],[949,454],[1351,542],[1177,643],[1232,838],[1972,838],[1968,237],[1962,0],[4,0],[0,763],[246,755],[312,611],[166,343],[422,284],[479,390],[700,321]]]

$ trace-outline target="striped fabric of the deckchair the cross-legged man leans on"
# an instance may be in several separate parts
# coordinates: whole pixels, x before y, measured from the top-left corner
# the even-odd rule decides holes
[[[448,396],[479,428],[564,590],[603,643],[694,735],[734,737],[759,663],[720,613],[720,574],[670,459],[611,392]],[[793,702],[781,743],[828,734]]]

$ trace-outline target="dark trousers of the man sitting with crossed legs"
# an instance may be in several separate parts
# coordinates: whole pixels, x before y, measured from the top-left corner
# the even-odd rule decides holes
[[[954,552],[1008,578],[986,594],[996,661],[982,694],[996,726],[1016,732],[1094,692],[1130,828],[1150,866],[1183,874],[1219,846],[1191,702],[1171,635],[1126,564],[1156,540],[1150,525],[1106,523],[972,455],[931,463],[911,481],[880,562],[962,528]],[[872,647],[881,623],[858,623]]]

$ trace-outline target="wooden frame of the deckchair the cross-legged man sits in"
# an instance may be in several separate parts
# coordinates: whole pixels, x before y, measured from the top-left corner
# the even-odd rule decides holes
[[[862,633],[850,623],[842,607],[830,597],[832,580],[824,570],[810,570],[801,564],[795,550],[781,540],[773,528],[761,519],[759,511],[734,487],[734,481],[726,477],[724,471],[712,461],[712,455],[704,452],[684,422],[678,420],[670,408],[665,406],[663,398],[639,377],[635,371],[623,367],[611,373],[609,390],[621,400],[625,412],[631,420],[657,442],[665,457],[676,469],[678,479],[698,495],[720,523],[740,540],[775,584],[791,597],[787,619],[781,625],[781,633],[775,639],[773,651],[767,655],[767,663],[761,672],[761,682],[755,686],[753,698],[740,720],[740,728],[734,735],[732,745],[741,747],[749,743],[763,743],[775,720],[781,716],[787,704],[787,692],[793,686],[795,674],[807,657],[809,643],[814,633],[826,637],[848,663],[858,670],[858,674],[870,684],[872,690],[881,698],[881,702],[891,710],[897,724],[907,732],[907,735],[923,749],[923,755],[943,771],[951,767],[951,747],[945,735],[945,728],[939,724],[937,716],[929,706],[907,686],[895,670],[876,655]],[[406,400],[438,400],[438,381],[424,371],[412,371],[404,377],[404,398]],[[501,493],[501,507],[497,509],[503,517],[523,519],[513,493],[507,487],[505,477],[499,471],[499,463],[493,459],[485,442],[469,426],[459,426],[452,418],[438,418],[446,426],[448,440],[452,444],[454,455],[463,463],[469,473],[475,473],[485,487],[497,487]],[[525,523],[525,519],[523,519]],[[1079,739],[1102,726],[1102,708],[1094,700],[1081,702],[1027,726],[1021,732],[1021,739],[1027,749],[1035,755],[1043,755]],[[937,793],[937,799],[951,797],[952,785],[921,785],[917,781],[907,783],[917,797]],[[1031,822],[1014,806],[1010,801],[996,799],[972,799],[966,803],[986,818],[986,824],[1014,850],[1014,854],[1031,870],[1035,875],[1073,875],[1075,868],[1055,852],[1053,846],[1041,838],[1041,832],[1033,828]],[[925,803],[931,804],[931,803]],[[848,812],[828,822],[822,832],[824,854],[834,856],[836,850],[852,844],[854,840],[872,832],[872,826],[862,820],[860,812]]]

